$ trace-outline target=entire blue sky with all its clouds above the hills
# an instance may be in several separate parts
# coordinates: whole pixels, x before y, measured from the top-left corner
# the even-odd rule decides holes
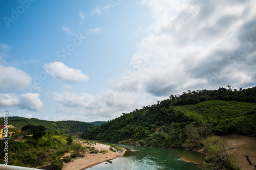
[[[1,0],[1,114],[92,122],[187,90],[253,87],[255,11],[254,0]]]

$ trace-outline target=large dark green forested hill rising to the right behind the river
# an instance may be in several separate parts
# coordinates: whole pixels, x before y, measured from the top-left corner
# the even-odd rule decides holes
[[[256,136],[255,89],[237,91],[229,87],[193,93],[188,91],[174,98],[171,95],[170,99],[158,104],[123,113],[99,127],[84,131],[82,137],[186,147],[187,141],[205,138],[209,134]],[[216,100],[216,96],[226,100]],[[238,96],[243,96],[243,100]],[[200,98],[204,100],[200,102]],[[241,100],[244,102],[239,102]],[[193,102],[195,104],[186,105]]]

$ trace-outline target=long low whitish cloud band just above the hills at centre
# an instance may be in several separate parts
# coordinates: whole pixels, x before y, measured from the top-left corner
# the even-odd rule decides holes
[[[135,98],[137,100],[135,100]],[[53,99],[62,106],[57,112],[66,113],[67,116],[84,117],[84,121],[109,120],[119,116],[121,113],[141,108],[157,101],[155,98],[144,100],[144,96],[137,93],[118,92],[113,89],[96,95],[88,93],[64,93],[53,92]],[[147,102],[147,103],[146,103]]]

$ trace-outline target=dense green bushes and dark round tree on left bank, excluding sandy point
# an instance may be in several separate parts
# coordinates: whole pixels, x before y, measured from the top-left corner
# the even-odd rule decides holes
[[[38,131],[34,131],[34,130]],[[41,167],[49,164],[57,164],[61,169],[65,158],[60,159],[65,153],[74,152],[80,154],[82,151],[79,142],[73,142],[64,135],[57,132],[44,131],[44,126],[26,126],[24,132],[37,134],[34,138],[16,139],[13,135],[8,140],[8,165],[25,166],[25,167]],[[16,133],[19,135],[19,133]],[[4,155],[4,143],[0,144],[0,154]],[[3,161],[3,158],[0,158]]]

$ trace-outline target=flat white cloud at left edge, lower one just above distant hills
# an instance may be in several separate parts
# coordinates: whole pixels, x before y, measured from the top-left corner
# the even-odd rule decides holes
[[[16,95],[14,93],[0,93],[0,107],[14,107],[19,109],[28,109],[37,111],[44,105],[39,99],[37,93],[25,93]]]

